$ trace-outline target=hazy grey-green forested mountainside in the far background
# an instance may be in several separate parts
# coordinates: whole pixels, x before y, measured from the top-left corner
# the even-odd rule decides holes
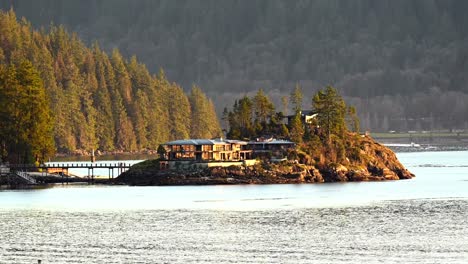
[[[332,85],[366,130],[468,128],[466,1],[0,3],[12,7],[36,28],[64,24],[103,50],[136,54],[150,72],[196,83],[218,110],[259,88],[279,105],[296,84],[307,98]]]

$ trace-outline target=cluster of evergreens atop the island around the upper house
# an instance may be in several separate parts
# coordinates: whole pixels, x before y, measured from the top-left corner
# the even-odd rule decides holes
[[[296,85],[289,97],[282,98],[283,109],[276,111],[270,98],[259,89],[253,97],[244,96],[235,100],[232,109],[223,111],[223,121],[229,128],[227,136],[234,139],[250,140],[255,137],[271,135],[302,143],[312,134],[323,134],[327,140],[332,135],[343,138],[346,131],[359,133],[359,118],[356,109],[346,106],[337,89],[327,86],[319,90],[310,100],[310,120],[303,116],[304,95],[302,88]],[[285,115],[291,103],[293,114]]]

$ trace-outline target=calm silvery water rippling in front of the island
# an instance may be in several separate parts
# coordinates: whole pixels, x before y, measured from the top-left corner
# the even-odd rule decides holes
[[[468,151],[412,180],[0,191],[0,263],[468,263]]]

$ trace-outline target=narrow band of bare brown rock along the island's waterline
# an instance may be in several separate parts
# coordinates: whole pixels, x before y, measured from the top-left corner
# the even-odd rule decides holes
[[[218,184],[297,184],[323,182],[353,182],[353,181],[384,181],[411,179],[413,175],[403,173],[401,178],[395,173],[384,169],[382,175],[371,175],[366,172],[338,170],[308,169],[294,166],[293,172],[262,170],[252,167],[213,167],[197,172],[140,172],[124,173],[116,183],[157,186],[157,185],[218,185]]]

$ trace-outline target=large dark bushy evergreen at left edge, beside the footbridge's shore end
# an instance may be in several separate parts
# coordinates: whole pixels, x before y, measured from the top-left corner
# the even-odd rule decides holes
[[[2,67],[0,104],[2,159],[28,163],[44,161],[54,153],[48,98],[30,61]]]

